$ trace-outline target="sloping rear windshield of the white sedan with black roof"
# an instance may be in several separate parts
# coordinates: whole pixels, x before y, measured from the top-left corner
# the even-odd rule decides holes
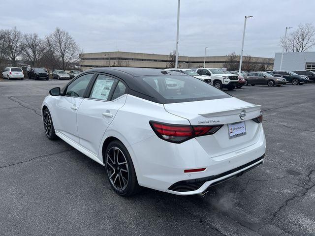
[[[163,103],[189,102],[231,97],[227,93],[190,76],[143,76],[151,87],[152,95],[158,93]]]

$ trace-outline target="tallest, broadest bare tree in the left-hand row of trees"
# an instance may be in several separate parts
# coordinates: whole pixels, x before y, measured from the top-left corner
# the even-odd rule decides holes
[[[49,54],[58,63],[59,68],[65,70],[73,62],[79,60],[80,48],[72,36],[60,28],[46,36],[46,47]]]

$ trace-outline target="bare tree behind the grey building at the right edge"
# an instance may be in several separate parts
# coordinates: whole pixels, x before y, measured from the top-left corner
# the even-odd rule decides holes
[[[300,24],[298,29],[290,33],[286,42],[284,37],[280,40],[280,45],[285,52],[306,52],[315,46],[315,27],[310,24]]]

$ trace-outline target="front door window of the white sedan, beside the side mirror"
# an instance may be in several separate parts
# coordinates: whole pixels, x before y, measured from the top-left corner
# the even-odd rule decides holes
[[[74,80],[66,89],[65,95],[71,97],[83,97],[94,74],[85,74]]]

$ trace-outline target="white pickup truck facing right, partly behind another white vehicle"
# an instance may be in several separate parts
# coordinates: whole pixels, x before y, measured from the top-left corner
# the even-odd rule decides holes
[[[199,75],[211,76],[212,85],[217,89],[233,90],[238,84],[238,76],[226,74],[219,68],[198,68],[196,72]]]

